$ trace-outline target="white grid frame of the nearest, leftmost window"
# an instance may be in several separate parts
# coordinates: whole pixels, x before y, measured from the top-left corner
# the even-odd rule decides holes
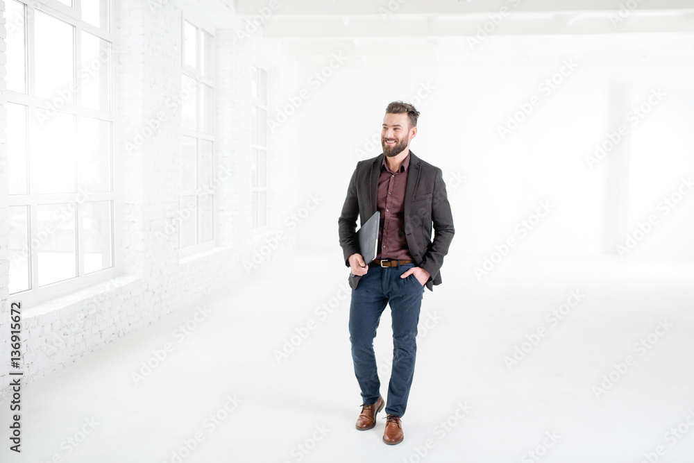
[[[24,40],[25,40],[25,85],[26,94],[15,92],[12,90],[6,90],[6,102],[16,103],[22,106],[26,106],[26,187],[27,190],[24,194],[8,194],[8,207],[12,206],[24,206],[28,207],[27,214],[27,265],[28,265],[28,283],[29,288],[24,289],[19,292],[10,294],[12,298],[21,298],[22,301],[27,305],[37,305],[44,303],[54,298],[60,296],[65,296],[66,294],[71,294],[77,292],[81,289],[102,283],[106,280],[115,278],[117,272],[119,271],[119,255],[118,255],[118,241],[119,233],[117,230],[117,217],[120,214],[120,204],[117,198],[118,184],[117,176],[115,175],[115,162],[114,162],[114,151],[115,151],[115,140],[117,139],[118,128],[116,124],[115,116],[115,95],[117,94],[117,81],[115,76],[117,76],[117,60],[115,60],[114,49],[115,49],[115,33],[113,30],[113,2],[110,0],[101,0],[101,21],[104,24],[104,28],[99,28],[94,26],[84,19],[81,19],[81,0],[74,0],[74,6],[70,7],[64,3],[60,3],[56,0],[8,0],[17,1],[24,6]],[[36,193],[33,192],[31,187],[31,135],[30,131],[33,130],[33,122],[36,120],[36,112],[39,110],[51,109],[52,100],[46,99],[41,96],[35,95],[35,16],[36,12],[40,11],[51,17],[65,22],[71,25],[74,29],[73,33],[73,53],[74,53],[74,67],[73,76],[74,83],[76,85],[79,81],[79,75],[83,63],[81,60],[82,56],[82,32],[90,33],[94,37],[98,37],[101,40],[105,40],[110,43],[110,59],[109,59],[109,85],[107,88],[108,92],[108,109],[107,110],[96,110],[93,108],[86,108],[81,106],[81,92],[76,92],[74,103],[65,102],[64,106],[57,109],[60,112],[72,115],[75,118],[75,131],[76,131],[76,154],[79,153],[79,138],[81,120],[84,117],[96,119],[99,121],[107,121],[110,124],[110,140],[108,142],[108,164],[109,169],[109,181],[110,190],[107,192],[89,192],[89,201],[81,201],[80,196],[83,194],[79,185],[79,166],[78,158],[75,162],[75,178],[74,178],[74,191],[69,193]],[[35,189],[34,189],[35,190]],[[92,271],[90,273],[83,273],[85,268],[84,255],[85,249],[83,247],[83,233],[81,233],[83,227],[81,208],[82,204],[85,202],[99,202],[99,201],[110,201],[111,205],[111,217],[110,217],[110,237],[111,237],[111,266],[105,269]],[[38,253],[36,249],[32,246],[33,233],[37,230],[33,230],[35,224],[37,224],[37,206],[39,205],[51,205],[51,204],[62,204],[62,203],[74,203],[74,226],[75,226],[75,269],[76,276],[69,277],[65,280],[59,280],[46,285],[38,286]],[[12,257],[10,256],[10,259]]]

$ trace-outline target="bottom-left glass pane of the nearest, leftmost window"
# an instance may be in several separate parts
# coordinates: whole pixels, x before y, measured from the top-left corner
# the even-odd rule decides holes
[[[26,205],[10,206],[10,294],[29,289],[29,231]]]

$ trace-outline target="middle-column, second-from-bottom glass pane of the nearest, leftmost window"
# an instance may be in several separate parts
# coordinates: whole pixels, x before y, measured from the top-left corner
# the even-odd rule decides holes
[[[75,117],[36,110],[31,134],[31,183],[34,193],[75,192]]]

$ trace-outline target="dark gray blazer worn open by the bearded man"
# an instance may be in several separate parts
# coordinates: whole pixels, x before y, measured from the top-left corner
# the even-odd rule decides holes
[[[441,284],[441,264],[448,253],[453,239],[453,217],[446,197],[441,169],[419,159],[409,151],[407,188],[405,190],[405,226],[400,231],[407,237],[409,253],[418,267],[431,275],[426,287],[433,291]],[[345,264],[349,267],[349,256],[359,253],[357,240],[357,216],[359,224],[369,220],[376,212],[378,176],[384,154],[357,162],[347,189],[347,197],[338,219],[340,246]],[[434,240],[432,241],[432,224]],[[350,275],[350,287],[357,287],[360,276]]]

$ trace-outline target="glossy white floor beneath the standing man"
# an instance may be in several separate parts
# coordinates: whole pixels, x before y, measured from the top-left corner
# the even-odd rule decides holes
[[[346,268],[295,253],[26,386],[23,452],[7,449],[5,403],[0,461],[694,461],[694,267],[509,257],[482,281],[470,268],[446,262],[425,292],[398,446],[381,441],[383,414],[354,428]],[[580,301],[552,326],[572,291]],[[383,394],[389,330],[386,311]],[[285,339],[296,346],[278,360]],[[509,369],[516,346],[527,353]],[[596,396],[604,375],[616,381]]]

